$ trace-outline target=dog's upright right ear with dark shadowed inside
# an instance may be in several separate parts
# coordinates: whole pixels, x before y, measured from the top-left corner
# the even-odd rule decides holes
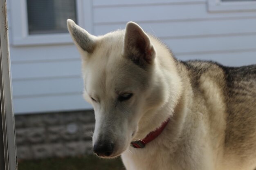
[[[155,49],[150,38],[135,22],[126,24],[123,54],[142,67],[153,64],[155,59]]]

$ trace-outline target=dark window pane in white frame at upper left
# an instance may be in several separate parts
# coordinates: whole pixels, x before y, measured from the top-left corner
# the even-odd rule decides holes
[[[27,0],[29,34],[67,32],[68,18],[76,22],[76,0]]]

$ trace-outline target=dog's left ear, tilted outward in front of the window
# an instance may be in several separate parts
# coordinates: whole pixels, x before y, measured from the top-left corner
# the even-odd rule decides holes
[[[79,49],[92,53],[96,45],[96,37],[76,25],[73,20],[67,20],[67,29]]]

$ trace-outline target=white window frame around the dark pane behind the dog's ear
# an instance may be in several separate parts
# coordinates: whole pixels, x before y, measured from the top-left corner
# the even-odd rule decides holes
[[[10,0],[11,42],[13,46],[71,44],[69,33],[32,34],[28,32],[27,0]],[[92,32],[92,0],[76,0],[77,24]]]

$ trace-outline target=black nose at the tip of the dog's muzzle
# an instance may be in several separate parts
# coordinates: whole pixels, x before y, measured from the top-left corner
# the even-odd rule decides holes
[[[99,157],[108,157],[114,150],[114,144],[106,142],[97,142],[93,146],[93,152]]]

